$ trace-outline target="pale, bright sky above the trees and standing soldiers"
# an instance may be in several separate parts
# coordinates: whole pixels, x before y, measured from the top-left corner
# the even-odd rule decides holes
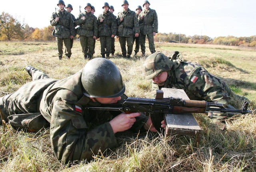
[[[256,0],[148,0],[150,8],[158,14],[158,32],[185,34],[186,36],[254,36],[256,35]],[[64,0],[73,6],[72,14],[78,17],[79,6],[86,3],[95,7],[94,15],[103,12],[104,2],[114,6],[114,15],[122,11],[123,0]],[[135,11],[144,0],[128,0]],[[50,25],[50,17],[58,0],[2,0],[0,12],[8,12],[22,24],[33,28]],[[142,7],[143,8],[143,7]]]

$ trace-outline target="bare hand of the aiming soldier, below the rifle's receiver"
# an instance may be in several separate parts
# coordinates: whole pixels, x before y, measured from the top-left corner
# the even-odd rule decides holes
[[[135,117],[137,116],[140,116],[140,112],[131,114],[122,113],[113,118],[109,123],[114,134],[130,129],[136,121]]]

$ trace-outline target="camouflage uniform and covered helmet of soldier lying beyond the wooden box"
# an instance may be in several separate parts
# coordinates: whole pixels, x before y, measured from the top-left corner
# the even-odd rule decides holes
[[[150,56],[162,54],[154,53]],[[164,54],[162,54],[164,55]],[[181,54],[178,54],[180,56]],[[150,57],[149,56],[149,57]],[[150,63],[152,64],[152,58],[147,58],[144,67],[146,71],[146,78],[152,79],[154,70],[151,70]],[[154,64],[157,68],[164,69],[168,73],[167,79],[164,85],[158,86],[158,84],[152,81],[152,98],[156,97],[156,90],[161,88],[178,88],[183,89],[191,100],[205,100],[207,102],[218,102],[224,104],[226,108],[233,108],[230,105],[230,99],[236,98],[238,100],[248,100],[244,96],[236,95],[225,82],[210,74],[204,67],[196,64],[195,62],[184,62],[179,58],[170,59],[160,58],[157,64]],[[162,70],[163,71],[163,70]],[[224,113],[209,113],[210,118],[216,118],[224,120],[228,117],[228,114]]]

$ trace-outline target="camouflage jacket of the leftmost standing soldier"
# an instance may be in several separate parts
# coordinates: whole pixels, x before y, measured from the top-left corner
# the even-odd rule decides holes
[[[60,18],[58,22],[56,21],[56,17]],[[58,10],[52,13],[50,23],[52,26],[55,26],[52,32],[53,36],[57,38],[70,38],[70,36],[75,36],[75,26],[72,16],[66,10],[64,10],[64,12]]]

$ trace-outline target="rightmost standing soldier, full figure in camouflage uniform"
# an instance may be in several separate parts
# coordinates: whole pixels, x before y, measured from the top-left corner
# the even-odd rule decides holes
[[[151,54],[156,52],[154,45],[154,36],[158,32],[158,18],[155,10],[149,8],[150,3],[146,0],[144,1],[144,10],[139,15],[140,23],[140,49],[142,51],[142,56],[145,56],[146,52],[146,36],[148,36],[149,50]]]

